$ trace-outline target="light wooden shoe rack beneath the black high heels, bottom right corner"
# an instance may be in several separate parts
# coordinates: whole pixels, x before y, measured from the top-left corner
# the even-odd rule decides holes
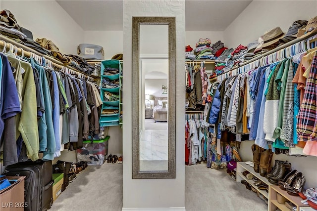
[[[278,185],[269,186],[269,201],[268,201],[268,211],[275,211],[277,208],[281,211],[291,211],[285,206],[285,204],[280,204],[277,201],[277,193],[279,193],[284,200],[293,203],[296,206],[296,211],[306,211],[304,207],[309,207],[309,205],[304,205],[301,203],[302,198],[299,196],[289,195],[286,191],[280,189]]]

